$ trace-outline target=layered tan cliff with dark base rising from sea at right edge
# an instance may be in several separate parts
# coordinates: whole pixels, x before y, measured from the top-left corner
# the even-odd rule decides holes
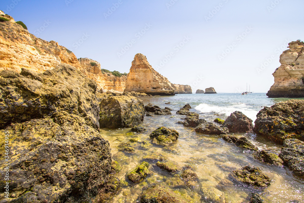
[[[304,97],[304,43],[298,40],[288,45],[289,49],[280,56],[281,66],[272,74],[275,84],[268,97]]]

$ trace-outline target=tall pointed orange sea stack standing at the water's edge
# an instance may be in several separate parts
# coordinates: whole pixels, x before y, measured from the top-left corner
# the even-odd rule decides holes
[[[169,80],[155,71],[143,54],[136,54],[126,80],[124,92],[139,92],[151,95],[174,95]]]

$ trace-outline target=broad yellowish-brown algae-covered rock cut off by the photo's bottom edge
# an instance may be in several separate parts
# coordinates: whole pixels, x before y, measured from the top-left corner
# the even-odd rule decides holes
[[[140,195],[141,203],[193,203],[187,194],[180,194],[164,185],[154,185]]]

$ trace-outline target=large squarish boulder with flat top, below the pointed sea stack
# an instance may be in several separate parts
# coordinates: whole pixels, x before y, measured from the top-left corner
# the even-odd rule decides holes
[[[140,124],[145,115],[143,101],[134,96],[112,96],[100,103],[100,127],[124,128]]]

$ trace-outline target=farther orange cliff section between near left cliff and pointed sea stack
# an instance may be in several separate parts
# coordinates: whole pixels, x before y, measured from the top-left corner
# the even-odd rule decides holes
[[[88,78],[95,80],[98,89],[102,89],[103,92],[106,92],[106,90],[123,92],[126,88],[127,77],[125,75],[118,77],[112,73],[102,72],[100,63],[92,59],[80,58],[78,61],[80,63],[80,71]]]

